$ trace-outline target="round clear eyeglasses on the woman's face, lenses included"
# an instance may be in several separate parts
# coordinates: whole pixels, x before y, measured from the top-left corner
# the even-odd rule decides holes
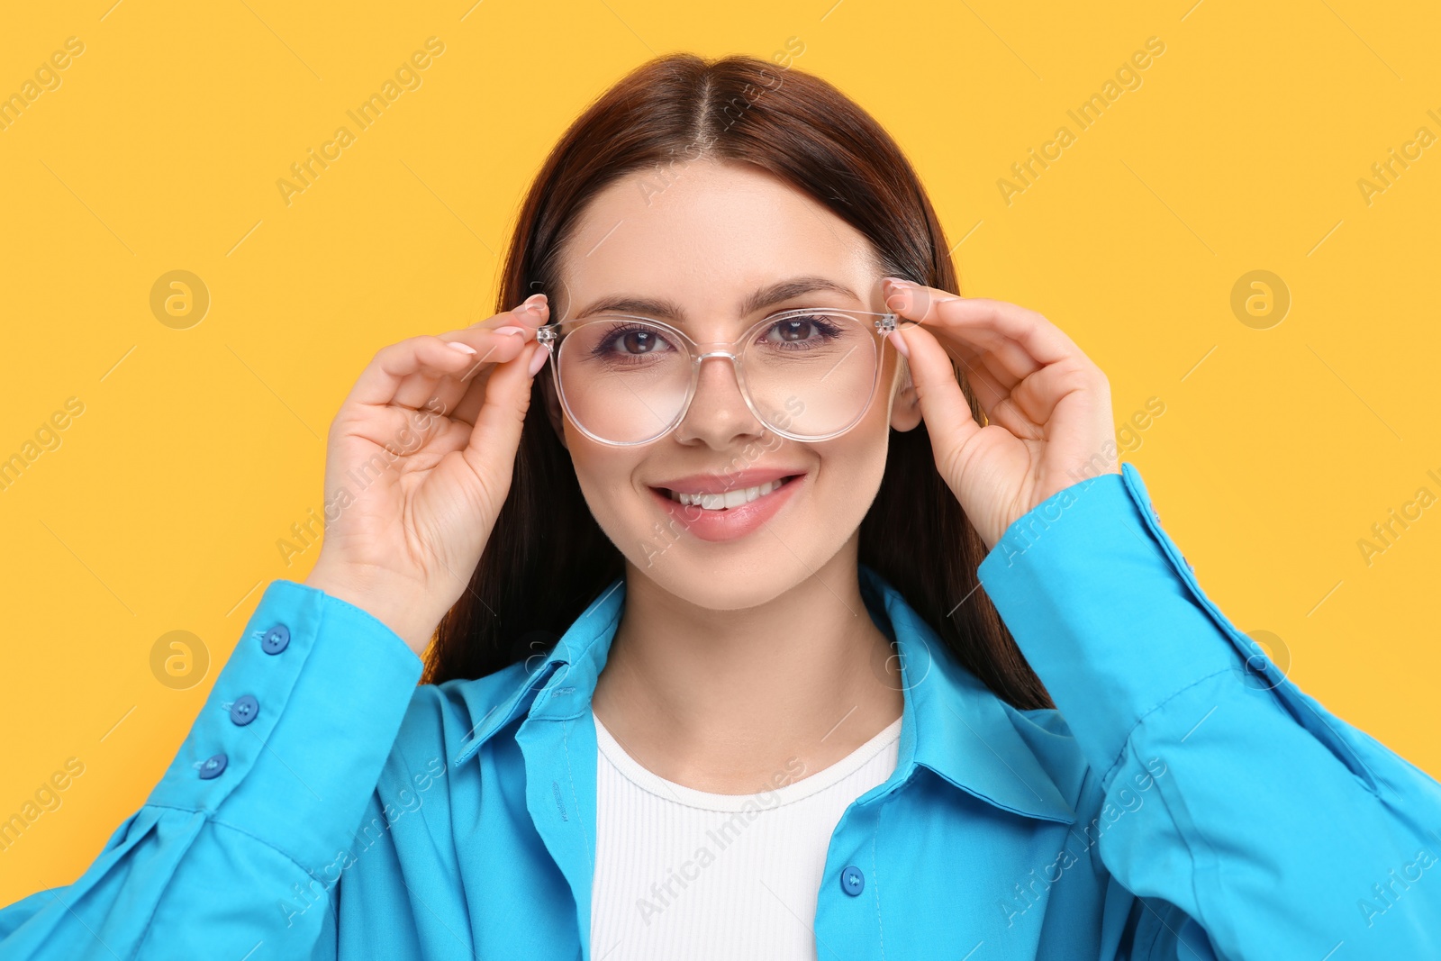
[[[915,323],[892,313],[798,307],[758,321],[733,343],[700,344],[659,320],[607,314],[546,324],[536,340],[550,352],[571,422],[602,444],[650,444],[674,429],[706,357],[731,360],[741,396],[767,428],[816,442],[860,422],[880,379],[885,336]]]

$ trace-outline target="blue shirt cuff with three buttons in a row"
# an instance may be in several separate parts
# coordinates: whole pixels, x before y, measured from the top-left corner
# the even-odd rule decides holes
[[[349,844],[424,664],[389,627],[272,581],[147,804],[202,811],[305,869]]]

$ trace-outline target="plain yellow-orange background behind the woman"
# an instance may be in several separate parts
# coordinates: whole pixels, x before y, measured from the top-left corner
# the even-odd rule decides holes
[[[870,109],[931,190],[963,292],[1065,328],[1118,422],[1164,405],[1125,457],[1208,594],[1304,690],[1441,775],[1441,507],[1411,507],[1369,563],[1357,546],[1418,488],[1441,494],[1441,147],[1415,141],[1441,134],[1434,7],[112,3],[30,4],[0,30],[0,95],[36,81],[0,128],[0,458],[37,454],[0,490],[0,818],[84,765],[0,852],[0,903],[72,882],[144,801],[264,585],[314,563],[277,542],[321,509],[323,438],[359,370],[491,313],[556,135],[676,49],[798,43],[797,69]],[[357,131],[346,111],[427,37],[444,52]],[[1150,37],[1164,52],[1118,78]],[[1082,130],[1068,111],[1108,81]],[[340,125],[354,141],[287,203],[277,180]],[[1062,125],[1071,143],[1046,147]],[[1055,158],[1020,183],[1032,148]],[[1414,158],[1382,184],[1392,148]],[[199,278],[174,316],[169,287],[153,298],[171,271]],[[1239,301],[1284,290],[1284,317],[1233,310],[1252,271],[1277,280]],[[53,450],[26,448],[37,432]],[[171,631],[197,640],[171,681],[189,687],[153,667]]]

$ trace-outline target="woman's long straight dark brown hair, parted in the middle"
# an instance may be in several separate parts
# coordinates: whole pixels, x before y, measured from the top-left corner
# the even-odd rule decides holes
[[[571,124],[540,169],[506,255],[496,311],[543,291],[561,248],[617,177],[663,184],[699,157],[755,164],[863,233],[885,274],[960,292],[945,232],[901,148],[829,82],[749,56],[656,58]],[[441,621],[425,680],[481,677],[545,653],[624,559],[595,523],[550,426],[549,367],[532,386],[514,475],[470,589]],[[961,377],[977,421],[980,406]],[[860,563],[889,581],[955,658],[1019,709],[1052,707],[976,569],[984,542],[935,468],[925,424],[891,431],[885,477],[860,524]],[[964,602],[963,602],[964,601]]]

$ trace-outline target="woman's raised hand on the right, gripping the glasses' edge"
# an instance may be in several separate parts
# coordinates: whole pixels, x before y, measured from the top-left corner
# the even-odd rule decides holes
[[[904,337],[941,477],[987,549],[1072,484],[1118,474],[1111,385],[1074,340],[1033,310],[885,281],[886,305],[919,321]],[[987,425],[971,416],[955,359]]]

